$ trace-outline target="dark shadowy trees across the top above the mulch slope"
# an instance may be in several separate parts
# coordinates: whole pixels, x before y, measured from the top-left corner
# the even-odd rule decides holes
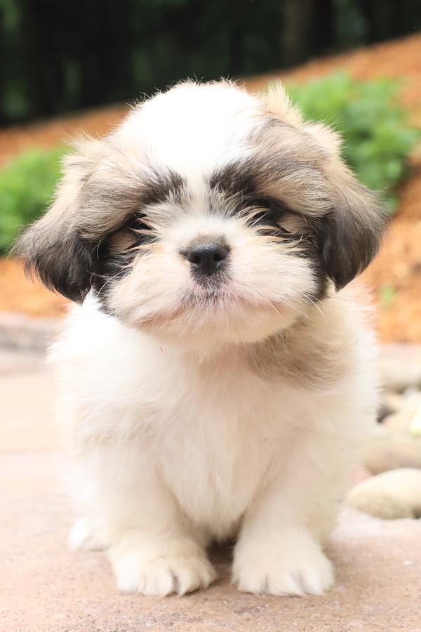
[[[420,22],[420,0],[0,0],[0,126],[278,70]]]

